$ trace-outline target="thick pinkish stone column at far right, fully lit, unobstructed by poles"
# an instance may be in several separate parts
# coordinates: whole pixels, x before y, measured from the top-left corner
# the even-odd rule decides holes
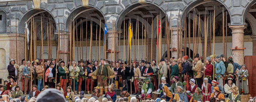
[[[244,29],[247,25],[229,25],[232,30],[232,55],[233,61],[239,65],[244,64]]]

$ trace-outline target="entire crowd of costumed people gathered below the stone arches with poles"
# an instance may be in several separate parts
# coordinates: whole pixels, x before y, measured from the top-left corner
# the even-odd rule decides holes
[[[233,62],[232,57],[226,61],[223,55],[203,59],[196,54],[193,60],[186,55],[162,58],[158,63],[153,59],[140,63],[69,60],[66,64],[53,58],[32,62],[23,59],[20,66],[11,59],[7,69],[9,81],[0,85],[2,100],[14,98],[20,102],[40,102],[44,97],[39,96],[49,88],[58,90],[53,93],[62,94],[68,102],[221,102],[225,98],[241,102],[240,94],[249,93],[246,65]],[[117,91],[121,98],[117,99]],[[84,98],[84,94],[91,94],[91,98]]]

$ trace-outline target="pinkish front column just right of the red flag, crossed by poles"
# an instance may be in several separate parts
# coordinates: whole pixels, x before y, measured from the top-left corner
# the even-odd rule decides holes
[[[169,28],[170,29],[170,28]],[[180,32],[180,29],[181,29],[181,32]],[[180,35],[181,35],[181,37],[182,37],[182,35],[183,35],[183,31],[184,31],[184,28],[179,28],[178,29],[179,31],[179,34],[178,34],[178,36],[179,36],[179,42],[180,42],[180,44],[181,44],[181,46],[180,46],[180,50],[183,50],[183,45],[182,45],[182,38],[181,38],[181,40],[180,40]],[[177,56],[178,56],[178,52],[177,52],[177,45],[178,45],[178,43],[177,43],[177,27],[176,28],[172,28],[172,46],[170,46],[170,47],[172,47],[172,57],[175,57],[175,58],[177,58]],[[170,42],[171,43],[171,42]],[[181,57],[183,57],[183,51],[181,51],[181,53],[180,53],[180,58]]]

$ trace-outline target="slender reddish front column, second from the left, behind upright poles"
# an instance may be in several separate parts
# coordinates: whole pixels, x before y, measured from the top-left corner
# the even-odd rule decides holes
[[[59,33],[58,33],[59,34]],[[60,58],[65,62],[65,64],[67,64],[68,62],[68,32],[60,32]]]

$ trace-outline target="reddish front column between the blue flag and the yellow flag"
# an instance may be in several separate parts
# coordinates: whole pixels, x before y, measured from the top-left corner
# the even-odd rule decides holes
[[[120,30],[108,30],[108,32],[106,33],[108,35],[108,48],[107,48],[107,54],[108,54],[108,60],[109,61],[115,61],[115,57],[114,55],[116,55],[116,61],[118,60],[118,53],[119,53],[119,49],[118,49],[118,42],[119,42],[119,32]],[[116,40],[116,44],[115,41]],[[114,50],[114,47],[116,47],[116,50]],[[112,52],[112,54],[111,54]],[[116,53],[114,53],[116,52]]]

